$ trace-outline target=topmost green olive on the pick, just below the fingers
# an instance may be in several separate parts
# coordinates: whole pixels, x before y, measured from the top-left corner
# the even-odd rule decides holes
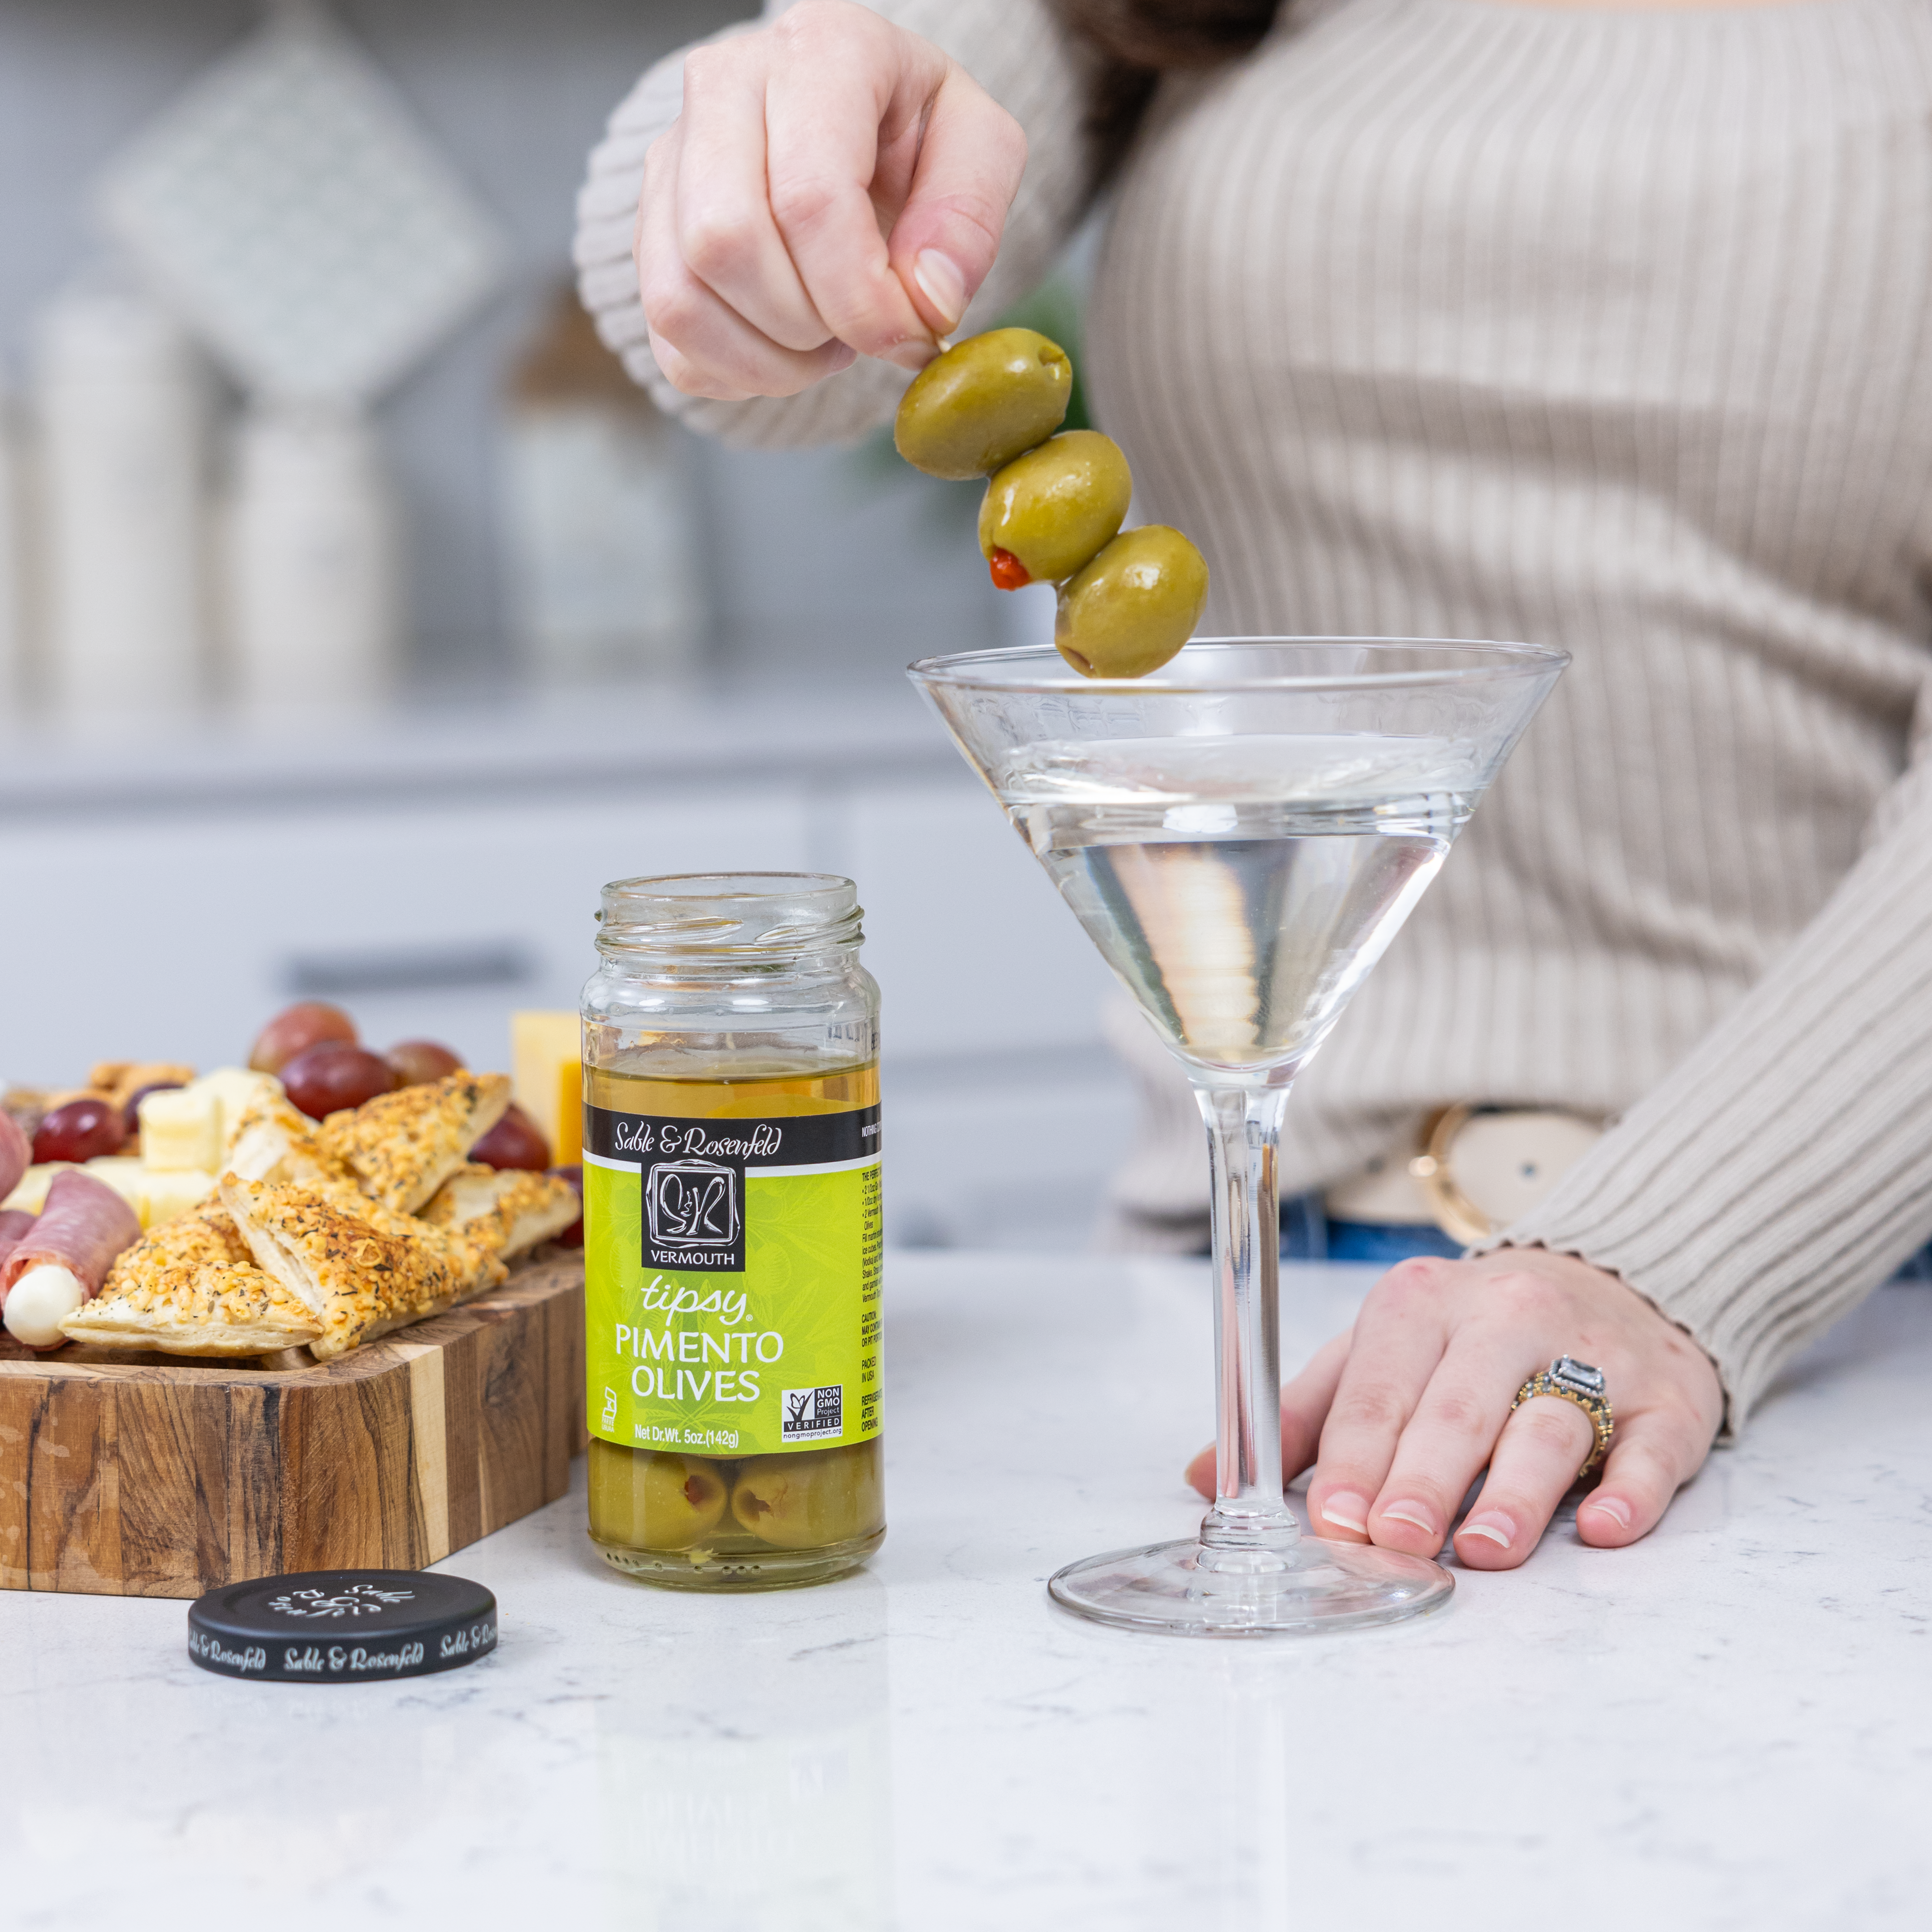
[[[1066,419],[1074,365],[1032,328],[989,328],[954,342],[914,379],[898,404],[898,454],[933,477],[962,483],[1045,442]]]

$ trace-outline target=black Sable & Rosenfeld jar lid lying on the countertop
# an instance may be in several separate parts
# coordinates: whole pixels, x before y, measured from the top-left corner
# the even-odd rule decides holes
[[[497,1598],[425,1571],[301,1571],[189,1605],[187,1656],[222,1677],[286,1685],[427,1677],[497,1648]]]

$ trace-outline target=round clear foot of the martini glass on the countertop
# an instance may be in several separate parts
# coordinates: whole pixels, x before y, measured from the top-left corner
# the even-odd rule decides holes
[[[1208,1569],[1209,1555],[1217,1567]],[[1196,1540],[1113,1549],[1047,1582],[1061,1609],[1119,1631],[1167,1636],[1316,1636],[1401,1623],[1449,1602],[1455,1578],[1428,1557],[1302,1538],[1281,1551],[1229,1551]]]

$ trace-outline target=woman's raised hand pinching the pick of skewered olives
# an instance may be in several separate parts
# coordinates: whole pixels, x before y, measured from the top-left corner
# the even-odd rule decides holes
[[[1026,135],[945,52],[850,0],[694,48],[651,143],[638,284],[690,396],[792,396],[854,355],[922,369],[985,280]]]

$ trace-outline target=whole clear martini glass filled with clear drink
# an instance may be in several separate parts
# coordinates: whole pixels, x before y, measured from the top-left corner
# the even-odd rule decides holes
[[[1215,1505],[1070,1563],[1097,1623],[1262,1636],[1393,1623],[1453,1582],[1304,1538],[1281,1493],[1275,1144],[1296,1072],[1435,877],[1569,657],[1519,643],[1221,638],[1151,678],[1047,647],[912,682],[1180,1061],[1213,1169]]]

